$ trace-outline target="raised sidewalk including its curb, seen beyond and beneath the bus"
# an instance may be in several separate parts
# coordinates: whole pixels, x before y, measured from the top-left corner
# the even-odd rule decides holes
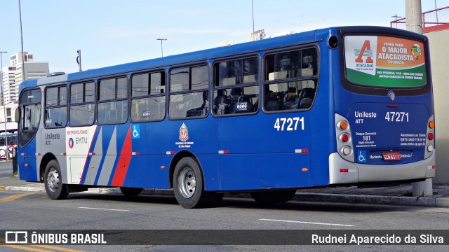
[[[412,184],[387,188],[320,188],[297,190],[294,201],[344,202],[358,204],[394,204],[422,207],[449,207],[449,185],[434,184],[434,195],[412,197]],[[43,183],[21,181],[17,177],[0,179],[0,190],[45,192]],[[119,188],[92,188],[88,193],[121,194]],[[144,195],[173,195],[173,190],[145,189]],[[226,194],[225,197],[249,197],[248,193]]]

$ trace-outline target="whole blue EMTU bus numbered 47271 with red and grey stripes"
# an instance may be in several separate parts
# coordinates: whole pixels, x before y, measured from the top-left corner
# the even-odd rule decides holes
[[[331,27],[20,84],[20,179],[52,200],[173,188],[182,207],[248,192],[389,186],[435,174],[426,36]]]

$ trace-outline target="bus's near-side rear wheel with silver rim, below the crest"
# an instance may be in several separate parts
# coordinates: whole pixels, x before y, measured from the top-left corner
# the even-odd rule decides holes
[[[177,202],[186,209],[205,207],[211,193],[204,191],[203,173],[193,158],[182,158],[173,173],[173,192]]]

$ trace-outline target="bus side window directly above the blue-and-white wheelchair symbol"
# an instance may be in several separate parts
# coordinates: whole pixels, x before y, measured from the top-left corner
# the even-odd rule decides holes
[[[165,73],[142,73],[131,78],[131,121],[162,120],[166,113]]]

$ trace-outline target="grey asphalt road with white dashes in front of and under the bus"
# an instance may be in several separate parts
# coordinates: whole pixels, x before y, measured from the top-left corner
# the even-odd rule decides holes
[[[15,198],[8,200],[10,196]],[[215,208],[182,209],[173,196],[72,193],[68,200],[53,201],[45,193],[0,191],[0,209],[2,230],[185,230],[186,234],[198,229],[449,230],[449,209],[436,207],[312,202],[261,207],[249,199],[225,199]],[[78,251],[447,251],[448,246],[76,245],[69,248]],[[0,246],[0,251],[20,250]]]

